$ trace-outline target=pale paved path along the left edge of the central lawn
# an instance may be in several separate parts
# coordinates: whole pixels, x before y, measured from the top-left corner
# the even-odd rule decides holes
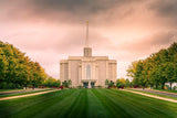
[[[19,96],[11,96],[11,97],[3,97],[3,98],[0,98],[0,100],[7,100],[7,99],[13,99],[13,98],[34,96],[34,95],[40,95],[40,94],[46,94],[46,93],[55,92],[55,90],[59,90],[59,89],[52,89],[52,90],[39,92],[39,93],[34,93],[34,94],[27,94],[27,95],[19,95]]]

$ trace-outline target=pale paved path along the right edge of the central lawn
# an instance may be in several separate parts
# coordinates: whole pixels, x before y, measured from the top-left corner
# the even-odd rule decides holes
[[[144,94],[144,93],[140,93],[140,92],[134,92],[134,90],[128,90],[128,89],[122,89],[122,90],[134,93],[134,94],[144,95],[144,96],[147,96],[147,97],[153,97],[153,98],[156,98],[156,99],[162,99],[162,100],[167,100],[167,101],[171,101],[171,103],[177,103],[177,100],[175,100],[175,99],[159,97],[159,96],[154,96],[154,95],[149,95],[149,94]]]

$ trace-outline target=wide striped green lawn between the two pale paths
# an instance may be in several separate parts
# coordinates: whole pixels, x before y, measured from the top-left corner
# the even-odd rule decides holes
[[[177,104],[118,89],[63,89],[1,100],[0,118],[175,118]]]

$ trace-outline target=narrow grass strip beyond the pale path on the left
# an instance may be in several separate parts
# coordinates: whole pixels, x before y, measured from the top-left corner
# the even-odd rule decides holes
[[[27,94],[34,94],[34,93],[45,92],[45,90],[51,90],[51,89],[42,89],[42,90],[34,90],[34,92],[27,92],[27,93],[15,93],[15,94],[9,94],[9,95],[0,95],[0,98],[11,97],[11,96],[20,96],[20,95],[27,95]]]

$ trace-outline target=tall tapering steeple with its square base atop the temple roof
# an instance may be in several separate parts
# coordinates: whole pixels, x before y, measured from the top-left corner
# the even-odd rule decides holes
[[[85,39],[85,47],[84,47],[84,56],[92,56],[92,49],[88,44],[88,21],[86,21],[86,39]]]

